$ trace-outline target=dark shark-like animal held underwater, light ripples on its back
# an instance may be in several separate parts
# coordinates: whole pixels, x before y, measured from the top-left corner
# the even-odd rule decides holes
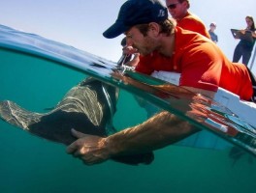
[[[32,112],[11,100],[0,101],[0,118],[38,137],[70,145],[77,139],[71,128],[101,137],[116,132],[112,119],[119,89],[96,78],[86,77],[47,113]],[[150,164],[153,152],[116,155],[117,161],[129,165]]]

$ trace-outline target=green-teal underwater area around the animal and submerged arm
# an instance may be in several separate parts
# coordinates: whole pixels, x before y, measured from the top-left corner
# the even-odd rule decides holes
[[[31,35],[33,36],[33,35]],[[0,52],[0,100],[47,112],[84,74],[48,60]],[[136,112],[136,113],[135,113]],[[118,129],[146,119],[134,96],[121,91],[114,116]],[[256,160],[230,149],[170,146],[155,152],[150,165],[113,161],[85,166],[48,142],[0,121],[0,192],[254,192]]]

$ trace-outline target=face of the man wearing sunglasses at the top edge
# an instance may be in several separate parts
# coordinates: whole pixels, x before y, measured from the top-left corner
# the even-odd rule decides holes
[[[187,13],[187,2],[179,3],[178,0],[166,0],[166,7],[173,18],[179,20]]]

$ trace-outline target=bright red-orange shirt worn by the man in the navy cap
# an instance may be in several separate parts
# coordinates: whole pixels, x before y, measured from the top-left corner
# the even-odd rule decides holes
[[[180,73],[179,85],[216,92],[226,89],[248,100],[252,84],[246,67],[231,63],[209,39],[176,27],[175,52],[165,57],[158,52],[140,56],[136,70],[151,74],[154,70]]]

